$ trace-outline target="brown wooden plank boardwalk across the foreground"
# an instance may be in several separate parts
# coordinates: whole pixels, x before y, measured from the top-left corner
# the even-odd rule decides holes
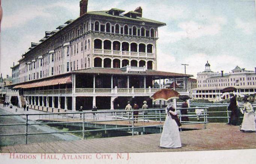
[[[256,148],[256,134],[240,132],[239,126],[229,126],[224,123],[209,123],[207,127],[207,129],[182,131],[182,148],[178,149],[163,149],[158,147],[161,134],[149,134],[91,140],[33,143],[28,145],[17,144],[14,146],[0,147],[0,151],[19,153],[113,153]]]

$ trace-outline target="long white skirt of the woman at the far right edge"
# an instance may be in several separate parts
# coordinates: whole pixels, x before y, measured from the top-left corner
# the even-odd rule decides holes
[[[241,130],[243,131],[255,131],[255,122],[254,122],[254,113],[244,112],[244,119],[242,120],[242,127]]]

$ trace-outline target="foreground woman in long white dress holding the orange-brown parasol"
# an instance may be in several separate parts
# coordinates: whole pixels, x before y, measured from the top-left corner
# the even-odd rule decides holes
[[[175,105],[171,100],[167,101],[168,105],[166,107],[166,119],[163,126],[163,132],[160,139],[160,147],[164,148],[178,148],[181,147],[181,138],[179,136],[179,126],[176,123],[175,119],[172,119],[171,114],[174,116],[177,115]],[[175,111],[169,111],[170,114],[167,113],[167,109],[169,108],[175,109]]]

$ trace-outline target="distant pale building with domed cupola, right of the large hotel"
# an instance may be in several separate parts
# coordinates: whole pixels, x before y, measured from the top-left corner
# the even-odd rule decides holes
[[[226,87],[235,87],[238,95],[256,93],[256,68],[247,71],[236,66],[231,72],[213,72],[210,64],[205,64],[205,71],[197,73],[197,88],[193,89],[192,97],[199,99],[213,99],[221,97],[221,90]],[[224,98],[228,98],[226,95]]]

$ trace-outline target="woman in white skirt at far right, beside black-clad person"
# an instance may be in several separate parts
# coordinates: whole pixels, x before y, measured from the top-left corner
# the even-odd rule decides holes
[[[255,132],[255,122],[254,122],[254,111],[253,106],[248,102],[247,98],[243,99],[244,107],[241,108],[241,112],[244,113],[244,118],[242,120],[242,127],[240,131],[243,132]]]

